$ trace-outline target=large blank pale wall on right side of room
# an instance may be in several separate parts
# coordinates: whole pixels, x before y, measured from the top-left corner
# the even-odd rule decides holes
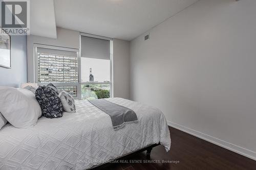
[[[131,42],[131,98],[256,159],[256,1],[201,0]]]

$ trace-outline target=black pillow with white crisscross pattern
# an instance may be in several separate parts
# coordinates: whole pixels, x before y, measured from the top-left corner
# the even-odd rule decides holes
[[[43,116],[48,118],[62,117],[63,106],[54,90],[47,86],[39,86],[35,91],[35,97],[41,107]]]

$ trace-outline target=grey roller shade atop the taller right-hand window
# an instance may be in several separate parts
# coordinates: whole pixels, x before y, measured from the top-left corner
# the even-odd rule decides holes
[[[110,40],[81,36],[81,57],[110,60]]]

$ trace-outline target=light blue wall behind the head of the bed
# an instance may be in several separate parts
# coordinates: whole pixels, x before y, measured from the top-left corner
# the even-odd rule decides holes
[[[11,68],[0,67],[0,86],[27,82],[27,36],[11,36]]]

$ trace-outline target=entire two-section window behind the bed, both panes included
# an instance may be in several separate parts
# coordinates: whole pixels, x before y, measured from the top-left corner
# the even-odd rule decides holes
[[[78,49],[34,44],[35,82],[53,83],[77,99],[110,98],[112,41],[81,33]]]

